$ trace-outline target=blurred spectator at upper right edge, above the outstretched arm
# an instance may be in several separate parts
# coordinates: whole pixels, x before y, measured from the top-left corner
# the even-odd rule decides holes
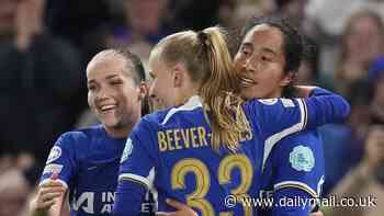
[[[376,13],[352,14],[341,38],[340,64],[335,72],[335,88],[347,98],[351,84],[368,80],[370,64],[384,53],[384,24]]]

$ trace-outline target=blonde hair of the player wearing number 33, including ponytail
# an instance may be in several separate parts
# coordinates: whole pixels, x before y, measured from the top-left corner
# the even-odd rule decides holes
[[[208,27],[201,32],[185,31],[161,39],[153,50],[155,58],[168,65],[184,64],[193,82],[200,83],[212,128],[212,147],[222,145],[236,151],[240,137],[249,133],[249,123],[238,92],[239,77],[233,69],[225,32]]]

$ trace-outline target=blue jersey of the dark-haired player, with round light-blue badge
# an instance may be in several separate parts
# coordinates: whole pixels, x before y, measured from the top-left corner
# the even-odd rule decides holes
[[[273,202],[273,205],[262,206],[261,215],[287,215],[289,212],[307,216],[314,207],[310,205],[315,204],[309,205],[308,198],[320,196],[324,178],[323,144],[317,130],[294,134],[272,147],[266,145],[260,197]],[[281,198],[278,193],[283,190]],[[298,205],[285,206],[287,202]]]

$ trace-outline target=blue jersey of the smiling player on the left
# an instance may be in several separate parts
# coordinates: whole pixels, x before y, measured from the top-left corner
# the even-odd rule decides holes
[[[48,156],[41,184],[53,172],[69,191],[70,215],[111,215],[124,139],[99,125],[63,134]]]

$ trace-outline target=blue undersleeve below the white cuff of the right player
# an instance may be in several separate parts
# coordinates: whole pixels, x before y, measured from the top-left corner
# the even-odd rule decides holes
[[[298,189],[279,190],[273,194],[272,216],[308,216],[313,208],[310,197],[308,193]],[[295,202],[301,204],[295,205]]]

